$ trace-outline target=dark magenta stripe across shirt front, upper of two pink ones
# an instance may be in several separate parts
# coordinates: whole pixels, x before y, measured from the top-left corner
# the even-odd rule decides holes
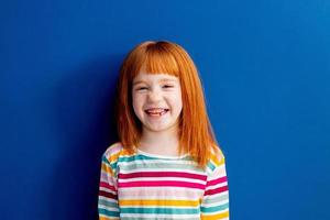
[[[206,175],[199,174],[190,174],[190,173],[183,173],[183,172],[138,172],[131,174],[119,174],[119,178],[127,179],[127,178],[139,178],[139,177],[183,177],[183,178],[193,178],[193,179],[200,179],[206,180]]]

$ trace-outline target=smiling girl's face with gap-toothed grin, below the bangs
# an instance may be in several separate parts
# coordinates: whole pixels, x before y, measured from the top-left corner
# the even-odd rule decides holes
[[[177,77],[141,70],[133,79],[132,98],[143,130],[163,132],[178,129],[183,100]]]

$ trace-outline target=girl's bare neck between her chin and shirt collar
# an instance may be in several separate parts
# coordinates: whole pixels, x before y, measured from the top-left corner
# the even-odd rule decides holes
[[[156,132],[144,129],[142,132],[139,148],[151,154],[178,156],[179,139],[177,129]]]

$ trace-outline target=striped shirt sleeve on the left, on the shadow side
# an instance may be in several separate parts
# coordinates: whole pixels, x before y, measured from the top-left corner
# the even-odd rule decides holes
[[[116,165],[117,163],[110,163],[106,155],[102,156],[98,199],[100,220],[120,219]]]

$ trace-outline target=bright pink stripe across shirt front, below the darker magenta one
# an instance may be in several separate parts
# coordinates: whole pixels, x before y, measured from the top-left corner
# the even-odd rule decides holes
[[[172,187],[188,187],[205,189],[205,185],[187,183],[187,182],[129,182],[129,183],[118,183],[118,187],[160,187],[160,186],[172,186]]]

